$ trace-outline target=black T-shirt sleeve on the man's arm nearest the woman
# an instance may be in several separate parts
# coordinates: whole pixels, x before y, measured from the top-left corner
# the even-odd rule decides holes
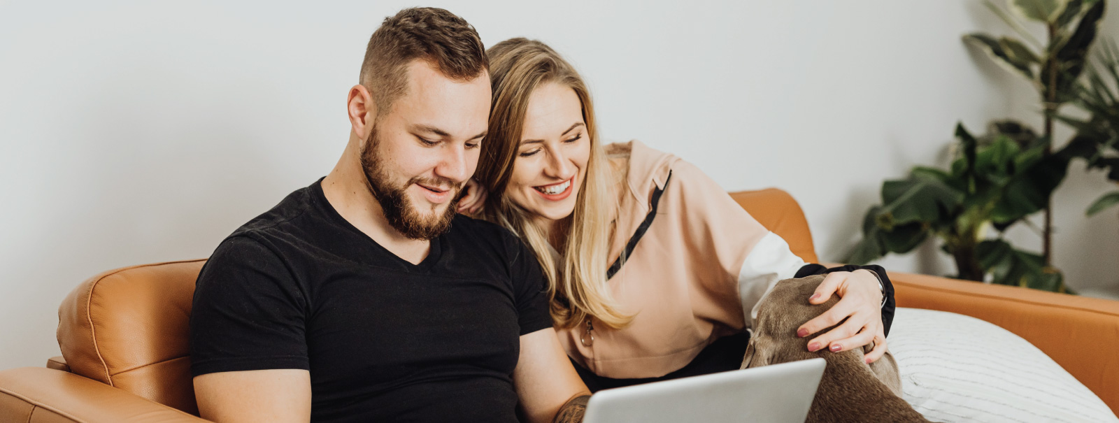
[[[509,244],[509,274],[513,276],[514,301],[517,306],[517,322],[520,335],[527,335],[552,327],[548,306],[548,284],[540,271],[536,255],[513,234],[507,234]]]

